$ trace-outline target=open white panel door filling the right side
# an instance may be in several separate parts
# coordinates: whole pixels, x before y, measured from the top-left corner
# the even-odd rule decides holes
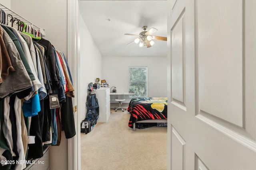
[[[255,170],[256,1],[167,8],[168,170]]]

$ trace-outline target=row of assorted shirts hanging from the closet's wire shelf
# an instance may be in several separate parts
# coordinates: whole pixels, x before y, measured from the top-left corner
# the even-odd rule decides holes
[[[1,23],[6,24],[0,10]],[[74,87],[66,57],[46,39],[0,24],[0,160],[24,162],[43,156],[43,147],[76,135]],[[28,27],[25,27],[24,30]],[[31,28],[31,27],[30,27]],[[39,35],[38,33],[37,35]],[[50,108],[57,94],[60,107]],[[0,164],[20,170],[26,164]]]

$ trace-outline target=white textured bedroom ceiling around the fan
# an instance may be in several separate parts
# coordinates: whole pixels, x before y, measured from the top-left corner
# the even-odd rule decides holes
[[[79,8],[102,57],[166,56],[166,41],[146,48],[127,45],[136,37],[124,35],[138,35],[146,25],[158,29],[153,35],[166,37],[166,0],[80,0]]]

